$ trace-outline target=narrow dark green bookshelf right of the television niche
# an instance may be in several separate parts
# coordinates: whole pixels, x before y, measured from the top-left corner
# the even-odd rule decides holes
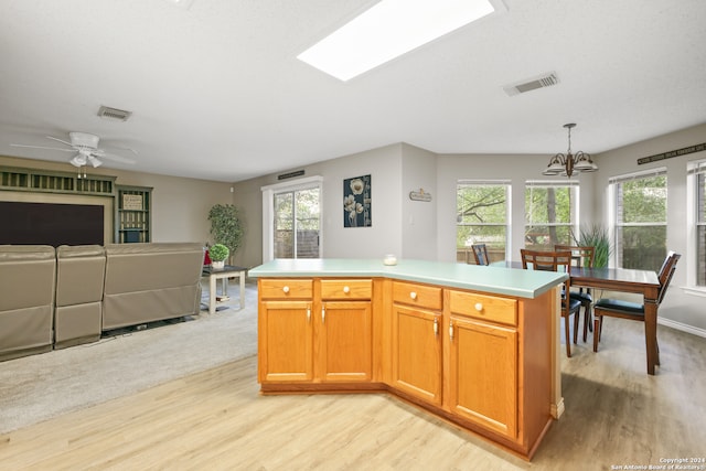
[[[116,244],[150,242],[152,189],[116,185]]]

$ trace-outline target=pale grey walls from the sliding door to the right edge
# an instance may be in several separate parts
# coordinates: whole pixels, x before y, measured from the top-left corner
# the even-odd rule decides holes
[[[682,330],[706,336],[704,298],[688,292],[687,270],[693,269],[687,247],[686,226],[686,162],[706,158],[700,154],[682,156],[649,165],[638,165],[637,159],[681,149],[706,141],[706,125],[638,142],[602,154],[593,160],[599,171],[573,176],[580,184],[579,223],[605,223],[608,179],[653,167],[666,167],[670,184],[667,244],[683,255],[672,288],[660,309],[660,321]],[[560,150],[560,149],[559,149]],[[512,183],[512,234],[510,258],[520,258],[524,246],[524,186],[527,180],[563,180],[542,175],[550,156],[537,154],[442,154],[408,144],[394,144],[353,156],[329,160],[306,168],[306,176],[324,179],[324,257],[382,257],[392,253],[403,257],[456,261],[456,184],[458,180],[510,180]],[[431,162],[435,162],[434,164]],[[343,179],[372,174],[373,227],[343,228]],[[436,173],[436,183],[430,182]],[[261,263],[261,234],[254,220],[261,217],[259,188],[275,183],[268,175],[235,184],[235,203],[246,208],[248,220],[247,261]],[[411,202],[409,191],[424,188],[432,194],[432,202]],[[261,221],[261,220],[260,220]],[[410,223],[411,221],[411,223]],[[429,231],[434,227],[434,231]],[[255,233],[257,231],[257,233]],[[253,248],[255,247],[255,248]],[[436,254],[432,253],[436,250]],[[704,292],[706,296],[706,292]]]

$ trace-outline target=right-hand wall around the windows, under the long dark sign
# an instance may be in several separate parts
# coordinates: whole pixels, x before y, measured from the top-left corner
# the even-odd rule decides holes
[[[660,307],[660,321],[673,327],[693,331],[706,336],[706,317],[704,315],[704,302],[706,289],[688,289],[688,275],[694,272],[695,250],[688,246],[687,212],[689,206],[686,191],[686,167],[688,161],[706,159],[706,152],[691,153],[657,162],[639,165],[638,159],[662,152],[668,152],[706,142],[706,125],[695,126],[681,131],[672,132],[654,139],[635,142],[619,149],[603,152],[597,157],[599,171],[596,173],[595,192],[600,195],[596,201],[596,217],[606,220],[608,179],[611,176],[629,174],[656,168],[666,168],[667,171],[667,249],[682,254],[676,266],[676,271],[666,298]],[[692,287],[693,288],[693,287]]]

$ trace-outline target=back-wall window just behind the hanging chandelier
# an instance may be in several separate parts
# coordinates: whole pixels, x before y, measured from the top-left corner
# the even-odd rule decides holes
[[[556,244],[574,245],[578,197],[578,182],[526,182],[525,248],[554,250]]]

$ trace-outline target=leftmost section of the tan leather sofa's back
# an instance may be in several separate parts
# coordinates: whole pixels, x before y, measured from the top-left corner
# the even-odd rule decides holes
[[[0,245],[0,361],[52,350],[55,281],[51,245]]]

